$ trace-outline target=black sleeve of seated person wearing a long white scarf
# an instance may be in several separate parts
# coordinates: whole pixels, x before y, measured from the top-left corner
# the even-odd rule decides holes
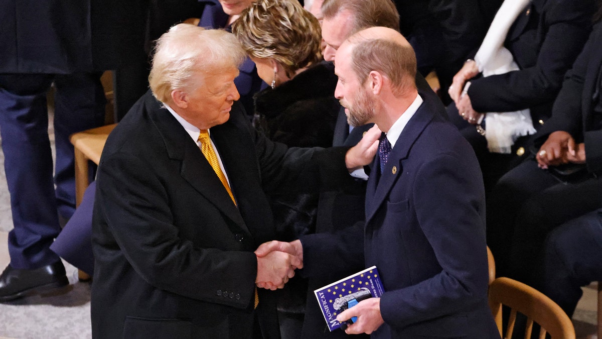
[[[539,23],[545,22],[547,30],[538,31],[547,33],[535,65],[471,80],[468,95],[477,112],[512,112],[556,97],[566,70],[573,65],[588,37],[591,2],[548,1],[539,15],[545,16]]]

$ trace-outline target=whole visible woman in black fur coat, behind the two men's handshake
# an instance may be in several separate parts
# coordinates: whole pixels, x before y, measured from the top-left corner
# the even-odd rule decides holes
[[[334,65],[322,61],[318,19],[297,0],[258,0],[232,24],[257,73],[270,87],[255,95],[255,127],[289,147],[330,147],[340,106],[334,97]],[[282,239],[315,232],[318,194],[282,188],[270,203]],[[291,279],[279,290],[282,338],[299,338],[305,314],[306,280]],[[309,305],[308,308],[318,305]],[[326,325],[324,323],[324,325]]]

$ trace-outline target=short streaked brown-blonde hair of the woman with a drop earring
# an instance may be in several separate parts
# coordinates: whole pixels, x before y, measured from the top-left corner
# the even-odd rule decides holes
[[[322,59],[320,23],[297,0],[256,1],[232,24],[232,33],[250,56],[275,59],[290,77]]]

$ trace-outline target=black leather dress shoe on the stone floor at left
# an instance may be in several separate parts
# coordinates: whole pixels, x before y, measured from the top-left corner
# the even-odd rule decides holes
[[[10,264],[0,276],[0,302],[45,293],[69,285],[60,261],[33,270],[13,268]]]

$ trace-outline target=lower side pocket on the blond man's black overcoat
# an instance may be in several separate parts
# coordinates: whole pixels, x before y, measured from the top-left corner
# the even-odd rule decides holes
[[[182,319],[126,317],[123,338],[192,338],[192,322]]]

